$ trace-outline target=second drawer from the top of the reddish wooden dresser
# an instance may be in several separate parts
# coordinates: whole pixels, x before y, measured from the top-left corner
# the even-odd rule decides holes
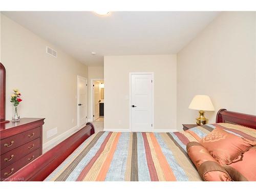
[[[21,159],[25,155],[37,150],[40,147],[40,138],[34,139],[22,146],[15,148],[5,154],[1,155],[1,169]]]

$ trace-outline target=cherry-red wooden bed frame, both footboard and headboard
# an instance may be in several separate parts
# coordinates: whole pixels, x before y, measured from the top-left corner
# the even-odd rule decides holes
[[[225,109],[221,109],[216,116],[216,123],[223,122],[256,129],[256,116],[231,112]],[[93,124],[87,123],[81,130],[18,170],[7,178],[7,181],[43,181],[92,134],[94,134]]]

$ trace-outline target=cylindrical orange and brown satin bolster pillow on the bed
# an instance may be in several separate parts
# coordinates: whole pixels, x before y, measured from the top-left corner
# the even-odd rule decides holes
[[[204,181],[231,181],[226,170],[209,154],[200,143],[192,141],[187,144],[187,154],[197,167]]]

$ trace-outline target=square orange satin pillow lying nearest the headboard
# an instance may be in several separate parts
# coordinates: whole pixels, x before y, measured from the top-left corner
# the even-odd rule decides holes
[[[256,145],[256,141],[236,136],[217,127],[202,138],[200,144],[223,165],[231,163],[234,158]]]

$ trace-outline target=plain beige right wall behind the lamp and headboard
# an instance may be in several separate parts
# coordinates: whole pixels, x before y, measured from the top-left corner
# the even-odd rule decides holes
[[[215,112],[221,108],[256,115],[255,12],[223,12],[178,55],[177,125],[194,123],[188,105],[207,94]]]

